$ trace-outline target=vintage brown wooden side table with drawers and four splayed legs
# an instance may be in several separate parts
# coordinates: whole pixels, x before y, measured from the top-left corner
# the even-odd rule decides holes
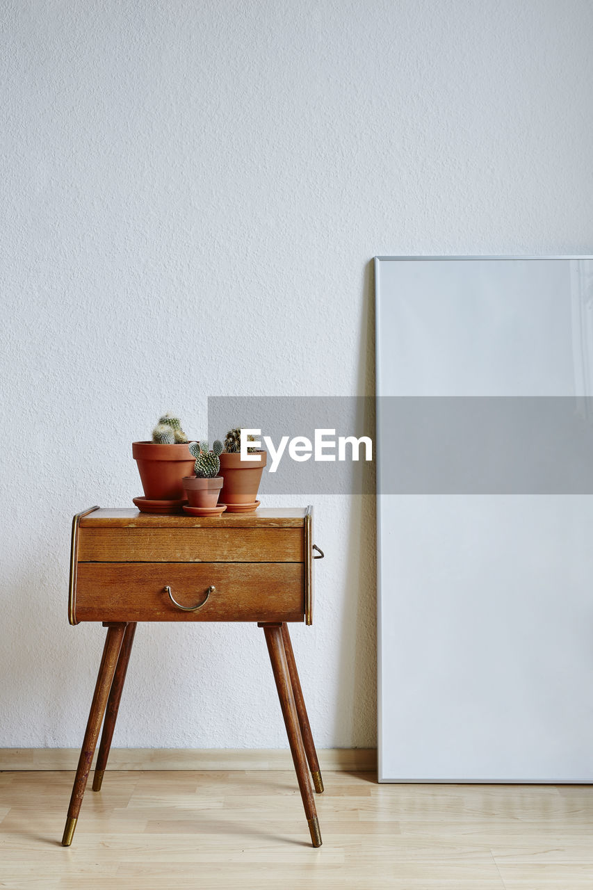
[[[101,790],[137,622],[256,621],[313,846],[321,846],[309,770],[318,793],[323,782],[288,635],[288,622],[313,621],[313,559],[323,554],[312,524],[311,507],[197,518],[95,506],[74,517],[69,622],[108,629],[62,845],[72,843],[105,716],[93,778]]]

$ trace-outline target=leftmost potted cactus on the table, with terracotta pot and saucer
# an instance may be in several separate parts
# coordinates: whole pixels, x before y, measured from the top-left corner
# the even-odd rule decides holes
[[[173,507],[175,503],[181,506],[185,499],[183,476],[191,473],[194,458],[179,418],[168,413],[159,417],[152,431],[152,441],[133,442],[132,454],[144,490],[144,498],[134,498],[134,504],[140,509],[150,506],[150,501],[167,501],[168,506]],[[142,505],[142,502],[145,503]]]

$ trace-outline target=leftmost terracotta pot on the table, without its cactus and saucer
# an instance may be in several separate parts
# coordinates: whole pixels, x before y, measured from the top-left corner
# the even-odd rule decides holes
[[[159,445],[132,442],[132,455],[138,464],[144,497],[149,500],[181,500],[183,476],[193,472],[195,459],[187,445]]]

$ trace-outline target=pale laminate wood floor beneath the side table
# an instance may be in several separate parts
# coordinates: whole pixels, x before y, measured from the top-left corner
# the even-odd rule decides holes
[[[593,887],[587,786],[378,785],[324,773],[315,850],[292,772],[111,772],[61,846],[73,773],[0,773],[10,890]]]

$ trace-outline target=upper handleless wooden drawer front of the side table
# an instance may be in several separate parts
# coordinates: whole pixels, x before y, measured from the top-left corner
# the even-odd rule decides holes
[[[302,529],[78,531],[78,562],[303,562]]]

